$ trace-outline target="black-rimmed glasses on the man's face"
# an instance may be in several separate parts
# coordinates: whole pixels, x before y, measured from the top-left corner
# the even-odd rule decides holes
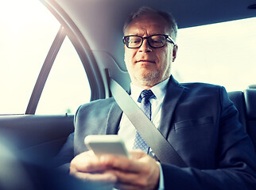
[[[155,34],[147,37],[131,35],[131,36],[124,36],[122,38],[123,43],[126,44],[126,47],[128,48],[141,47],[145,39],[148,40],[149,46],[154,48],[164,47],[166,42],[170,42],[175,45],[173,38],[165,34]]]

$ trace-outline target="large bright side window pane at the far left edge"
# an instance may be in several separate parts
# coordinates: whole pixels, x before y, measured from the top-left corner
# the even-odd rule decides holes
[[[25,113],[60,23],[40,1],[0,6],[0,114]]]

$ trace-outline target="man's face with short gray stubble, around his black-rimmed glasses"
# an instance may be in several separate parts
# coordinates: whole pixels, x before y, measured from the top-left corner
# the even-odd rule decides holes
[[[126,28],[125,36],[142,37],[153,34],[169,34],[167,21],[157,14],[144,14]],[[177,47],[167,42],[164,47],[153,48],[144,40],[141,47],[125,45],[125,62],[134,85],[149,89],[171,75],[171,64],[176,58]]]

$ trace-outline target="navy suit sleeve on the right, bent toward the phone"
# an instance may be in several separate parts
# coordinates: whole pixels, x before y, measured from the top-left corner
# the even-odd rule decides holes
[[[165,189],[256,189],[254,147],[224,88],[219,89],[219,107],[215,169],[161,164]]]

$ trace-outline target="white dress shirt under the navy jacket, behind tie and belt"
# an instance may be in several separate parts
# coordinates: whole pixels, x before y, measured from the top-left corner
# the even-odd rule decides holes
[[[151,104],[151,121],[157,128],[159,127],[160,121],[161,121],[161,105],[163,104],[163,100],[165,98],[166,86],[168,81],[169,81],[169,78],[151,88],[153,94],[155,95],[155,97],[149,99]],[[140,107],[141,103],[138,102],[138,98],[140,97],[140,94],[142,93],[143,89],[138,86],[134,86],[134,84],[131,83],[130,90],[131,90],[130,97]],[[126,114],[122,114],[122,118],[119,124],[118,135],[121,136],[121,138],[124,140],[127,150],[133,150],[136,129],[133,126],[133,124],[131,124]],[[150,151],[151,149],[149,150],[149,152]],[[162,173],[160,164],[159,164],[159,168],[161,171],[160,173],[161,175],[160,175],[158,190],[161,190],[161,189],[164,189],[164,180],[163,180],[163,173]]]

